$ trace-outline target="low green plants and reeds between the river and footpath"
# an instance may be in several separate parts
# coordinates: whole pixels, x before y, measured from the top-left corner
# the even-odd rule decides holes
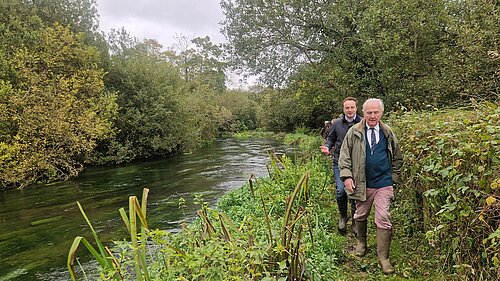
[[[145,228],[136,238],[131,236],[132,245],[116,242],[113,251],[101,254],[89,248],[97,260],[109,255],[108,259],[113,262],[112,267],[100,265],[101,279],[113,276],[133,279],[130,271],[133,267],[139,267],[136,277],[146,276],[147,272],[152,280],[284,280],[311,276],[331,280],[338,277],[331,262],[342,259],[345,240],[328,231],[332,227],[329,206],[334,197],[324,192],[329,168],[325,169],[320,160],[323,157],[300,161],[300,164],[292,163],[287,157],[273,155],[272,159],[271,180],[253,182],[250,179],[255,196],[249,192],[249,185],[243,186],[223,196],[217,210],[209,208],[198,197],[199,219],[189,226],[183,225],[176,234],[147,230],[145,202],[143,200],[140,206],[135,204],[135,209],[144,212],[142,217],[138,215],[144,219]],[[182,206],[181,202],[180,208]],[[134,208],[131,205],[131,216]],[[135,233],[132,219],[126,218],[124,210],[120,212],[132,235]],[[148,251],[144,252],[146,244]],[[76,248],[70,251],[68,265],[72,265]]]

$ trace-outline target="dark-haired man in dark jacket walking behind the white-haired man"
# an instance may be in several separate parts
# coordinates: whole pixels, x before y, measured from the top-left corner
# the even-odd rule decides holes
[[[342,102],[344,114],[340,118],[332,121],[332,126],[326,137],[326,142],[324,146],[321,146],[321,151],[325,154],[330,154],[332,148],[335,148],[333,152],[333,172],[335,174],[335,184],[336,184],[336,197],[337,205],[339,208],[340,218],[339,218],[339,231],[341,233],[346,232],[347,222],[349,217],[347,216],[347,194],[344,190],[344,182],[340,179],[340,170],[338,167],[340,147],[342,146],[342,141],[344,137],[353,125],[361,121],[361,117],[356,114],[358,110],[358,101],[353,97],[347,97]],[[351,205],[351,216],[354,216],[356,212],[356,204],[354,200],[349,200]],[[354,221],[353,221],[354,224]],[[356,231],[356,227],[353,225],[353,230]]]

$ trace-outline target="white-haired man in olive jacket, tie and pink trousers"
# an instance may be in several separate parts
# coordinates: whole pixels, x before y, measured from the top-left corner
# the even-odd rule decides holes
[[[366,254],[367,219],[375,204],[378,260],[382,272],[390,274],[394,268],[389,261],[389,207],[403,158],[393,131],[380,121],[383,113],[384,103],[380,99],[368,99],[363,104],[363,120],[347,132],[342,143],[339,169],[348,196],[356,200],[356,255]]]

